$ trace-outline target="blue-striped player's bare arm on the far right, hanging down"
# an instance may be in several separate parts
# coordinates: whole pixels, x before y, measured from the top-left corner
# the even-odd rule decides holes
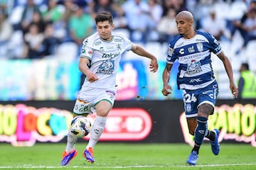
[[[230,81],[230,91],[232,92],[232,94],[235,98],[238,98],[238,87],[235,85],[235,81],[233,78],[233,69],[232,69],[230,60],[228,60],[228,57],[224,54],[223,51],[220,52],[220,54],[218,54],[217,56],[223,62],[225,71],[228,74],[228,79]]]

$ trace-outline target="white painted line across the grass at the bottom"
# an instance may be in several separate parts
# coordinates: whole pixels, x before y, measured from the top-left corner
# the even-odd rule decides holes
[[[212,166],[251,166],[255,165],[255,163],[248,164],[207,164],[207,165],[196,165],[194,167],[212,167]],[[0,166],[0,169],[60,169],[60,168],[79,168],[79,169],[128,169],[128,168],[161,168],[161,167],[189,167],[188,165],[131,165],[131,166],[44,166],[44,165],[17,165],[17,166]]]

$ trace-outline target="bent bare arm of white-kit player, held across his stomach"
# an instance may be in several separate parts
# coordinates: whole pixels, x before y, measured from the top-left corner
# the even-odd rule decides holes
[[[95,73],[91,72],[88,67],[89,59],[86,57],[80,57],[79,59],[79,70],[85,74],[86,79],[90,82],[96,81],[98,78]]]

